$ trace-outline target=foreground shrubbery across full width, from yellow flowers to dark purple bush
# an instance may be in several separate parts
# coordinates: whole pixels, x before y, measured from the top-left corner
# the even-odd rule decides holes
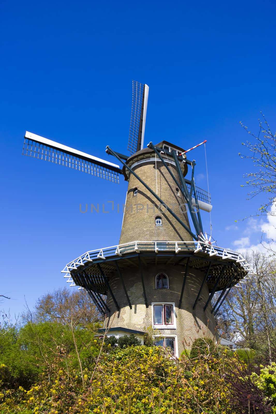
[[[248,375],[228,350],[201,344],[197,359],[172,359],[160,347],[115,347],[93,341],[98,357],[83,370],[55,359],[52,377],[43,372],[29,390],[4,390],[2,414],[239,414],[272,412],[274,395],[264,375]],[[101,351],[101,354],[100,354]],[[208,361],[208,363],[207,363]],[[5,366],[0,368],[4,375]],[[275,374],[275,373],[274,373]],[[275,382],[276,383],[276,382]],[[239,387],[233,386],[239,384]],[[239,402],[237,405],[235,402]]]

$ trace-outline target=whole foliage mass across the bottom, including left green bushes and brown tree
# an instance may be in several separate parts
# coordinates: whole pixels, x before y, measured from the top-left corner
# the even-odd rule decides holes
[[[150,330],[142,346],[96,339],[99,326],[87,296],[65,290],[43,296],[24,325],[2,325],[0,414],[276,412],[276,365],[259,367],[255,351],[239,358],[205,337],[175,359]]]

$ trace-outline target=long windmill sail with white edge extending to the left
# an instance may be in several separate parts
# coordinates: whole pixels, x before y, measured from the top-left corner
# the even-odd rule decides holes
[[[120,167],[112,162],[66,147],[28,131],[24,137],[22,154],[74,168],[92,176],[113,181],[113,183],[119,183],[119,174],[122,173]]]

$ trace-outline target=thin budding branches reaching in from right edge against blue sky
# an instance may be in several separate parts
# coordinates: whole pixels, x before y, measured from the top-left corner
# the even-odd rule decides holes
[[[242,187],[252,187],[253,190],[248,194],[255,197],[258,194],[267,195],[268,199],[262,202],[259,207],[261,214],[271,214],[270,207],[274,204],[276,197],[276,133],[271,131],[264,114],[262,120],[259,119],[259,132],[254,134],[249,131],[242,122],[240,124],[251,135],[256,142],[242,142],[242,145],[249,149],[250,154],[239,154],[241,158],[251,159],[255,171],[245,174],[246,185]]]

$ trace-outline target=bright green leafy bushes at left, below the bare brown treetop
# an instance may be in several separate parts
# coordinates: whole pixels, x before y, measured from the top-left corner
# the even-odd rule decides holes
[[[78,328],[74,332],[79,358],[85,368],[94,363],[98,349],[94,344],[94,332]],[[79,367],[70,327],[58,322],[27,323],[0,329],[0,365],[5,370],[0,373],[2,386],[24,388],[38,380],[44,373],[49,384],[55,375],[56,364],[67,373],[67,380],[72,381],[72,372]]]

